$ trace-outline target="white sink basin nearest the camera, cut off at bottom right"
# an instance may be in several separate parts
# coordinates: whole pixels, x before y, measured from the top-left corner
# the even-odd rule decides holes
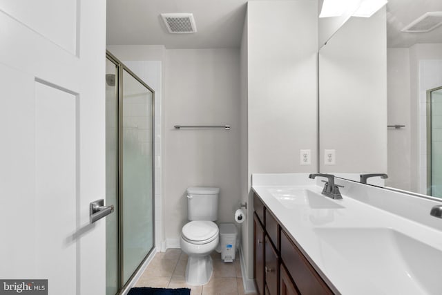
[[[442,251],[387,228],[314,229],[327,272],[352,272],[364,294],[441,294]],[[344,275],[345,277],[345,275]]]

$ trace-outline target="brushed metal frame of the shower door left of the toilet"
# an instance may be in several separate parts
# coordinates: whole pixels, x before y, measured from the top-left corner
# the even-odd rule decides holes
[[[144,262],[147,260],[148,256],[152,253],[153,249],[155,249],[155,91],[148,86],[145,82],[140,79],[135,73],[132,72],[122,61],[119,61],[117,57],[115,57],[112,53],[106,50],[106,58],[115,64],[118,68],[118,79],[117,79],[117,100],[118,100],[118,227],[117,227],[117,240],[118,240],[118,293],[122,294],[126,291],[128,286],[131,284],[131,281],[140,270]],[[128,278],[126,284],[124,284],[124,237],[123,237],[123,71],[126,71],[129,75],[131,75],[137,82],[140,82],[142,86],[146,87],[152,93],[152,106],[151,106],[151,129],[152,129],[152,138],[151,138],[151,149],[152,149],[152,247],[144,257],[142,261],[140,261],[140,265],[138,265],[135,272]]]

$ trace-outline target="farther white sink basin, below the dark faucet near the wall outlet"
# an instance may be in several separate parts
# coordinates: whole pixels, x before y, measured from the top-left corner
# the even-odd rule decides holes
[[[299,205],[308,205],[312,209],[344,208],[326,196],[309,189],[269,189],[269,193],[288,209],[294,209]]]

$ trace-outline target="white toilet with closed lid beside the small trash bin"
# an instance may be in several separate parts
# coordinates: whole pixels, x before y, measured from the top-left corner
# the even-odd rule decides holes
[[[180,246],[189,258],[186,283],[199,286],[209,282],[213,272],[210,256],[220,240],[218,225],[218,187],[189,187],[187,213],[189,222],[182,227]]]

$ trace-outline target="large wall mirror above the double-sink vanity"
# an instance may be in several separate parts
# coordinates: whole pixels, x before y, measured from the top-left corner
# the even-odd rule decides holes
[[[442,113],[427,112],[427,91],[442,86],[442,26],[401,32],[425,12],[440,13],[421,25],[441,22],[442,1],[389,0],[370,18],[348,19],[320,48],[320,172],[387,173],[385,187],[442,191],[431,181],[442,168],[429,164],[442,155]]]

